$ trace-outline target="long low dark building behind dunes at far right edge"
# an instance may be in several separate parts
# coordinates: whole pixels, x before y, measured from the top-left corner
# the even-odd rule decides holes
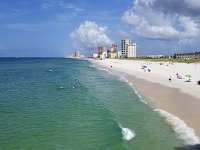
[[[174,54],[174,57],[178,59],[200,59],[200,52],[177,53],[177,54]]]

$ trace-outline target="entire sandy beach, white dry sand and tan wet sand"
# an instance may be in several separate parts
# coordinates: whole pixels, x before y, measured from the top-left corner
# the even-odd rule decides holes
[[[94,60],[93,63],[125,73],[147,103],[180,118],[200,137],[200,85],[196,83],[200,80],[200,64],[118,59]],[[191,77],[185,76],[187,74]]]

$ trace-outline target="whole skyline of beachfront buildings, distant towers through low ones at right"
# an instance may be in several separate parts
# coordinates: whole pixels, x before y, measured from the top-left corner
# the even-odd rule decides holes
[[[80,51],[73,52],[70,58],[83,58],[84,55],[80,54]],[[121,48],[119,50],[118,45],[113,43],[109,48],[100,45],[96,53],[92,54],[92,57],[97,59],[105,58],[135,58],[136,55],[136,43],[132,42],[131,38],[121,40]],[[146,55],[140,56],[142,58],[177,58],[177,59],[200,59],[200,52],[188,52],[188,53],[176,53],[171,56],[164,55]]]

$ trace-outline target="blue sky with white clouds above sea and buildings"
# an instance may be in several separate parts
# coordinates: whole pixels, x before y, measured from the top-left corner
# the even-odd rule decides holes
[[[139,56],[200,51],[199,0],[0,0],[0,57],[89,56],[129,37]]]

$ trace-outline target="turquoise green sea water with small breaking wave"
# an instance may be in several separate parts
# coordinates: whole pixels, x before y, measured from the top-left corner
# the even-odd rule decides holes
[[[0,59],[0,150],[172,150],[171,127],[88,61]]]

